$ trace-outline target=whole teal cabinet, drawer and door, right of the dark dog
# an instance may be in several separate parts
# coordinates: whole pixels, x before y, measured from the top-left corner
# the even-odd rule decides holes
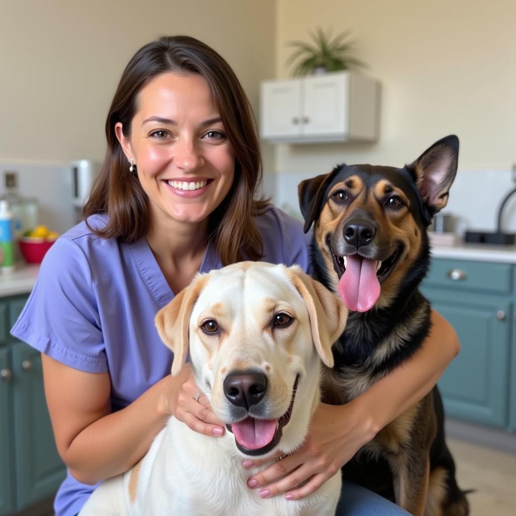
[[[439,380],[446,414],[506,430],[516,426],[514,267],[433,258],[422,287],[461,344]]]

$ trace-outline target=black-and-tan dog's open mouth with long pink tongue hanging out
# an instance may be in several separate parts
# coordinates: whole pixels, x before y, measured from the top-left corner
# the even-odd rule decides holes
[[[338,275],[338,294],[348,310],[367,312],[380,297],[380,284],[394,270],[403,248],[398,246],[386,260],[372,260],[360,254],[337,256],[333,267]]]

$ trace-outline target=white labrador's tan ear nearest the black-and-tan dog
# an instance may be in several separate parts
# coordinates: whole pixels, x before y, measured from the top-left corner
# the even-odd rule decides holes
[[[348,309],[340,297],[299,267],[289,267],[287,274],[307,305],[315,349],[322,362],[333,367],[331,347],[344,331]]]

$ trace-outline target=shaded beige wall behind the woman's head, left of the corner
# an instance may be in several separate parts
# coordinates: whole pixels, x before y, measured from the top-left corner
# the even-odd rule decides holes
[[[0,0],[0,162],[102,160],[120,75],[162,35],[213,46],[257,108],[275,16],[275,0]]]

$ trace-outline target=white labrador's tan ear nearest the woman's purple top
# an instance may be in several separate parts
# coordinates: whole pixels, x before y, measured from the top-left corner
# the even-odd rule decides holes
[[[161,340],[174,352],[172,376],[179,375],[186,362],[190,315],[207,279],[208,275],[197,275],[190,285],[175,296],[154,318]]]

